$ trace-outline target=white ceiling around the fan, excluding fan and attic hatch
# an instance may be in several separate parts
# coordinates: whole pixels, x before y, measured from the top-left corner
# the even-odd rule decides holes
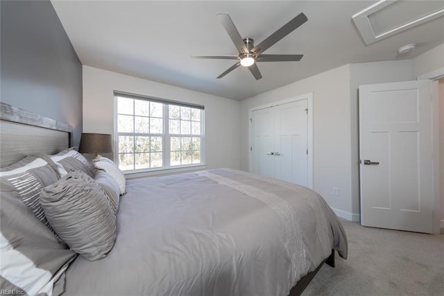
[[[444,43],[440,17],[366,45],[352,15],[377,1],[51,2],[83,65],[230,99],[252,97],[348,63],[413,58]],[[216,79],[235,61],[190,56],[237,55],[218,13],[229,13],[242,38],[253,38],[255,44],[305,13],[308,22],[266,51],[304,57],[258,63],[259,81],[244,67]],[[416,43],[416,49],[399,56],[397,49],[409,43]]]

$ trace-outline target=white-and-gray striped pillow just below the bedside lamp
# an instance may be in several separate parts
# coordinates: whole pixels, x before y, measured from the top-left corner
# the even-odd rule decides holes
[[[88,176],[94,177],[94,167],[85,156],[78,153],[74,148],[65,149],[58,154],[50,155],[49,158],[57,165],[60,176],[65,176],[71,170],[80,170]]]

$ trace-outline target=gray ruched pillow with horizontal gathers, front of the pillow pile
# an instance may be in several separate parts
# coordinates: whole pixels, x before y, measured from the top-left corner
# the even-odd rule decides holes
[[[78,254],[90,261],[114,246],[116,216],[105,192],[81,171],[71,171],[42,190],[40,202],[49,223]]]

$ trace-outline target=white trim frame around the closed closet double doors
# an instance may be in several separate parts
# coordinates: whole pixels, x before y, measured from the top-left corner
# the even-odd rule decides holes
[[[307,99],[307,108],[308,108],[308,117],[307,117],[307,149],[308,149],[308,163],[307,163],[307,186],[310,189],[313,189],[313,92],[309,92],[308,94],[302,94],[298,97],[291,97],[289,99],[284,99],[280,101],[273,101],[268,104],[264,104],[261,106],[256,106],[248,109],[248,171],[252,172],[252,163],[253,163],[253,154],[251,147],[253,146],[253,124],[251,124],[251,120],[253,118],[253,112],[265,108],[271,108],[274,106],[279,106],[282,104],[289,104],[295,101],[302,101]]]

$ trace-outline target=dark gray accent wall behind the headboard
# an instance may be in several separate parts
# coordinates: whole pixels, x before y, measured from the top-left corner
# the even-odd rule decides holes
[[[82,64],[50,1],[0,1],[1,101],[82,132]]]

